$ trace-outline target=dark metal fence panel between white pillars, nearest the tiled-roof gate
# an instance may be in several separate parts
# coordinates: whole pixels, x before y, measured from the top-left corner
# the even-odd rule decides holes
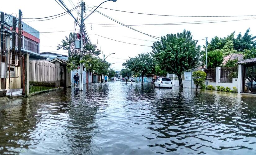
[[[233,78],[238,78],[238,66],[220,68],[220,82],[232,83]]]

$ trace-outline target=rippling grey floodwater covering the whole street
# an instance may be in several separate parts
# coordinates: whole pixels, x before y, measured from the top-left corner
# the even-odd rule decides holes
[[[256,96],[95,83],[0,104],[0,154],[256,154]]]

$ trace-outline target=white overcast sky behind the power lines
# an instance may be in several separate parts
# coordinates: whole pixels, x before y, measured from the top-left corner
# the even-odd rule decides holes
[[[74,8],[71,0],[63,0],[69,9]],[[81,0],[72,0],[76,5]],[[98,6],[104,0],[84,0],[86,5],[93,7]],[[65,12],[54,0],[12,0],[0,2],[0,10],[8,14],[16,13],[21,9],[23,12],[23,18],[40,18],[50,15],[60,14]],[[8,7],[7,7],[8,6]],[[116,10],[150,13],[150,14],[164,14],[164,15],[204,15],[204,16],[218,16],[218,15],[256,15],[255,12],[256,1],[253,0],[117,0],[117,2],[106,2],[101,7],[112,8]],[[78,8],[80,9],[80,7]],[[91,10],[91,8],[88,8]],[[90,11],[86,11],[86,15]],[[239,20],[256,18],[251,17],[168,17],[168,16],[154,16],[154,15],[138,15],[131,13],[124,13],[118,11],[111,11],[102,8],[98,8],[98,11],[110,16],[111,18],[118,20],[124,24],[162,24],[162,23],[175,23],[175,22],[191,22],[191,21],[203,21],[203,20]],[[72,14],[77,17],[77,12],[72,11]],[[52,31],[74,31],[74,19],[70,15],[64,15],[56,19],[38,21],[38,22],[26,22],[39,32],[52,32]],[[150,38],[144,34],[138,33],[124,26],[120,27],[104,27],[104,25],[92,25],[87,23],[99,23],[99,24],[117,24],[114,21],[100,15],[99,13],[93,13],[85,21],[86,28],[90,34],[90,38],[93,44],[97,44],[98,48],[103,51],[107,56],[106,60],[112,64],[111,67],[115,67],[115,70],[123,68],[122,63],[129,57],[134,57],[139,53],[146,53],[152,51],[151,47],[143,47],[136,45],[129,45],[121,42],[115,42],[106,38],[93,35],[93,33],[108,37],[111,39],[129,42],[140,45],[152,46],[153,42],[142,41],[132,38],[145,39],[156,41],[154,38]],[[210,24],[186,24],[186,25],[162,25],[162,26],[131,26],[143,33],[148,33],[153,36],[164,36],[170,33],[182,32],[183,29],[190,30],[194,39],[204,39],[208,37],[209,41],[214,36],[226,37],[228,34],[236,31],[236,35],[239,32],[245,33],[245,30],[251,28],[251,34],[256,35],[256,19],[232,21],[223,23],[210,23]],[[60,54],[66,54],[67,51],[56,50],[56,46],[61,43],[61,40],[68,36],[69,32],[59,33],[40,33],[40,52],[56,51]],[[129,38],[130,37],[130,38]],[[205,40],[199,41],[198,45],[205,44]],[[101,55],[101,57],[103,57]],[[114,57],[114,58],[113,58]],[[119,59],[115,59],[119,58]]]

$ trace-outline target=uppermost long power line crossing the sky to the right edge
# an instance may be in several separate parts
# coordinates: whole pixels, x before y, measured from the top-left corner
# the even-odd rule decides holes
[[[158,15],[158,16],[171,16],[171,17],[246,17],[246,16],[256,16],[256,15],[221,15],[221,16],[203,16],[203,15],[159,15],[159,14],[148,14],[148,13],[139,13],[139,12],[130,12],[130,11],[122,11],[122,10],[115,10],[109,9],[105,7],[100,7],[102,9],[108,9],[113,11],[120,11],[126,13],[134,13],[134,14],[142,14],[142,15]]]

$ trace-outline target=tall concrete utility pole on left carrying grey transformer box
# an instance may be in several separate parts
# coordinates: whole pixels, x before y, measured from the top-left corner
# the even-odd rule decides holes
[[[82,1],[82,4],[81,4],[81,24],[80,24],[80,61],[82,60],[82,57],[83,57],[83,7],[84,7],[84,3]],[[81,63],[81,62],[80,62],[79,91],[83,91],[83,63]]]

